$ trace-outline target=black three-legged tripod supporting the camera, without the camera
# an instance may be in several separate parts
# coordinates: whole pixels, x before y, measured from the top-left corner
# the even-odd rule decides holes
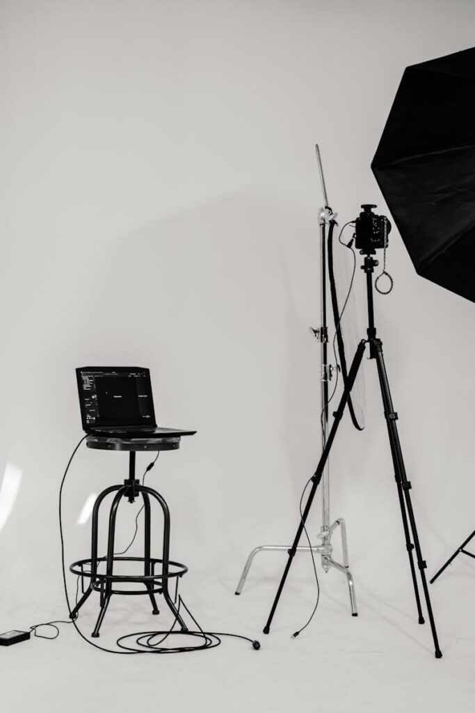
[[[348,399],[350,398],[351,389],[353,389],[353,384],[357,376],[358,369],[360,369],[363,354],[366,349],[366,345],[370,345],[370,359],[375,359],[377,364],[377,375],[380,379],[382,403],[385,411],[385,419],[387,423],[387,433],[390,438],[392,463],[395,468],[395,478],[397,484],[397,494],[399,496],[401,515],[402,515],[402,526],[404,528],[404,537],[406,540],[407,555],[409,557],[409,566],[411,568],[412,583],[414,585],[414,595],[416,597],[417,613],[419,615],[419,624],[424,624],[424,617],[422,616],[421,601],[419,597],[419,589],[417,587],[416,570],[414,567],[414,556],[413,550],[415,549],[417,566],[419,568],[420,578],[422,582],[422,589],[424,590],[424,599],[427,606],[427,613],[429,615],[430,627],[432,630],[432,638],[434,640],[435,657],[437,659],[442,657],[442,652],[439,648],[439,641],[437,640],[437,631],[435,628],[434,615],[432,614],[432,606],[429,597],[429,589],[427,588],[427,580],[424,570],[427,568],[426,563],[422,558],[421,546],[419,544],[419,538],[417,536],[416,520],[414,518],[414,511],[412,510],[411,502],[411,483],[407,480],[406,470],[404,468],[404,460],[402,458],[401,444],[399,440],[399,434],[397,433],[397,413],[392,406],[392,399],[390,394],[390,385],[387,380],[387,373],[385,367],[385,361],[382,356],[382,342],[376,337],[375,328],[375,318],[373,310],[373,284],[372,284],[372,273],[374,272],[375,266],[378,265],[377,260],[372,257],[374,250],[365,251],[365,262],[362,265],[362,270],[366,273],[366,287],[367,287],[367,308],[368,308],[368,328],[367,328],[367,339],[362,339],[357,347],[356,354],[353,358],[353,362],[350,366],[350,371],[348,372],[348,379],[345,383],[345,388],[343,389],[343,394],[340,399],[340,404],[338,404],[338,409],[333,414],[333,425],[330,429],[330,434],[328,434],[328,439],[323,448],[323,453],[320,457],[320,461],[312,477],[312,488],[308,495],[308,500],[301,517],[301,521],[298,525],[296,538],[293,540],[293,545],[290,550],[288,550],[288,560],[286,563],[286,568],[283,570],[283,575],[281,578],[281,583],[278,585],[278,590],[276,597],[273,600],[273,605],[271,608],[271,613],[268,616],[266,626],[263,629],[264,634],[268,634],[271,629],[271,622],[273,620],[273,615],[276,612],[278,605],[278,600],[281,597],[283,590],[283,585],[286,583],[288,571],[291,568],[293,557],[296,553],[298,543],[301,539],[303,533],[303,528],[305,527],[306,520],[308,518],[308,513],[312,506],[313,498],[317,492],[318,485],[323,476],[323,471],[325,469],[325,463],[328,460],[330,454],[330,448],[332,447],[333,441],[335,439],[336,432],[338,430],[338,425],[345,411],[345,406],[348,404]],[[411,542],[411,535],[414,544]]]

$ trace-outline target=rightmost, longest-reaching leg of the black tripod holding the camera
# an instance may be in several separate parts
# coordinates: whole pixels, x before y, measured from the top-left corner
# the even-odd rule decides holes
[[[387,380],[387,373],[386,373],[386,367],[385,367],[385,360],[384,357],[382,356],[382,342],[380,339],[372,339],[371,340],[371,348],[372,348],[372,356],[376,359],[377,363],[377,374],[380,379],[380,387],[381,387],[381,395],[382,395],[382,403],[385,409],[385,419],[387,423],[387,431],[390,437],[390,445],[391,445],[391,453],[392,453],[392,459],[394,462],[395,466],[395,476],[396,480],[398,483],[398,491],[401,491],[404,495],[404,502],[403,498],[400,498],[400,502],[402,505],[405,504],[405,509],[402,508],[402,520],[403,523],[404,521],[407,524],[407,519],[406,519],[406,511],[407,511],[407,518],[409,519],[409,524],[410,524],[410,530],[412,531],[412,538],[414,540],[414,548],[416,550],[416,557],[417,557],[417,566],[419,568],[419,574],[420,578],[422,581],[422,589],[424,590],[424,599],[426,602],[427,606],[427,613],[429,615],[429,622],[430,622],[430,627],[432,631],[432,639],[434,640],[434,648],[435,648],[435,657],[437,659],[442,657],[442,652],[439,648],[439,640],[437,639],[437,630],[435,627],[435,622],[434,622],[434,615],[432,613],[432,605],[430,601],[430,596],[429,596],[429,589],[427,588],[427,580],[426,580],[426,575],[425,575],[425,569],[427,568],[427,564],[424,562],[424,559],[422,558],[422,551],[421,551],[421,546],[419,543],[419,537],[417,535],[417,526],[416,526],[416,520],[414,518],[414,511],[412,510],[412,501],[411,501],[411,496],[409,493],[409,490],[411,488],[411,483],[407,480],[406,476],[406,469],[404,468],[404,459],[402,458],[402,450],[401,450],[401,444],[399,440],[399,434],[397,432],[397,426],[396,426],[396,420],[397,420],[397,414],[395,413],[394,407],[392,405],[392,399],[391,399],[391,392],[390,392],[390,385],[389,381]],[[405,528],[404,528],[405,529]],[[409,538],[409,530],[407,530],[407,535],[406,535],[406,543],[410,543],[410,538]],[[409,548],[408,547],[408,553],[409,553],[409,560],[412,561],[412,546]],[[412,570],[414,568],[414,563],[412,563]],[[414,581],[414,591],[417,592],[417,581],[415,579],[415,572],[413,570],[413,581]],[[418,593],[417,593],[418,596]],[[420,611],[420,602],[419,602],[419,611]]]

